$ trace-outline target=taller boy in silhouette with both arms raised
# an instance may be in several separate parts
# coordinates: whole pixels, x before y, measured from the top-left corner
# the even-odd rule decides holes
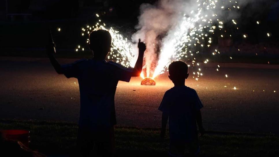
[[[55,45],[49,34],[47,53],[58,74],[79,81],[80,117],[77,137],[78,156],[113,156],[115,153],[114,125],[116,114],[114,95],[118,81],[129,82],[131,76],[140,76],[146,46],[138,43],[139,56],[134,68],[125,68],[112,61],[105,61],[111,50],[111,35],[99,29],[89,35],[92,59],[81,59],[60,65],[54,57]],[[94,149],[93,149],[94,148]]]

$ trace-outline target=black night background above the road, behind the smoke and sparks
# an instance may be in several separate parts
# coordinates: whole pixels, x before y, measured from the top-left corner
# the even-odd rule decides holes
[[[75,57],[78,44],[85,47],[81,27],[94,25],[96,13],[108,27],[114,27],[128,39],[136,31],[137,17],[142,3],[156,3],[155,0],[0,0],[0,55],[44,57],[48,29],[51,28],[61,53]],[[232,45],[222,45],[220,33],[213,36],[214,46],[235,46],[239,44],[278,46],[278,0],[249,3],[241,8],[239,30],[231,24],[224,24],[226,31],[233,34]],[[260,25],[256,25],[260,21]],[[58,32],[57,29],[61,28]],[[267,37],[267,32],[271,37]],[[248,34],[247,39],[243,34]],[[85,33],[86,35],[86,33]],[[209,51],[204,49],[203,51]],[[276,51],[276,52],[275,52]],[[86,52],[86,51],[85,51]],[[278,53],[273,50],[272,54]]]

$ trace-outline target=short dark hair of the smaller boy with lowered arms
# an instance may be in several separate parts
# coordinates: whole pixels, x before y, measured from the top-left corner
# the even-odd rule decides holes
[[[188,65],[184,61],[173,61],[169,65],[171,76],[185,76],[188,74]]]

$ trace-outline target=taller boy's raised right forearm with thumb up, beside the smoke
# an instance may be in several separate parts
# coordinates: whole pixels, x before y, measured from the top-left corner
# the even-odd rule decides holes
[[[139,57],[137,58],[137,62],[131,76],[140,76],[140,73],[142,72],[143,54],[146,50],[146,46],[143,42],[140,42],[139,39],[139,44],[137,47],[139,48]]]

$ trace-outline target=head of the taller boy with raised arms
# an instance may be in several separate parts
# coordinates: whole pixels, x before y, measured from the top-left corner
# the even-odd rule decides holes
[[[94,58],[105,59],[111,48],[111,35],[108,31],[99,29],[89,35],[89,48]]]

